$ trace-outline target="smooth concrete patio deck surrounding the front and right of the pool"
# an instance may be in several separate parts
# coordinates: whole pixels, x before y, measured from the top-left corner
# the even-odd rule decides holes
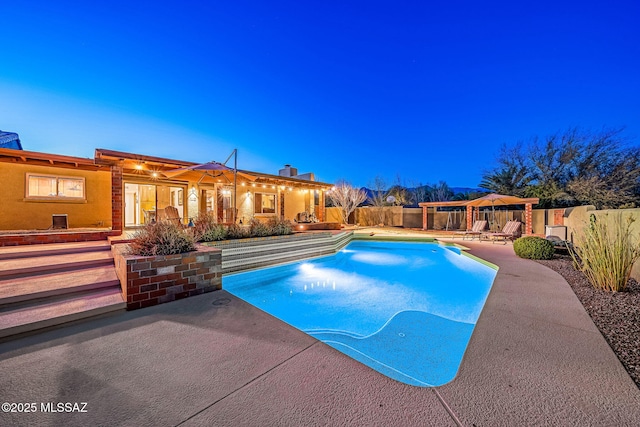
[[[640,390],[564,279],[511,245],[464,245],[500,271],[442,387],[391,380],[216,291],[0,344],[0,400],[37,404],[0,425],[640,425]]]

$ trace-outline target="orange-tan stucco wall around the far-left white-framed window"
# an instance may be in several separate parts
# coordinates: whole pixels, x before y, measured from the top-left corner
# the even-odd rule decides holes
[[[26,174],[84,177],[86,202],[25,200]],[[0,163],[2,215],[0,230],[46,229],[52,214],[67,214],[70,228],[111,227],[111,174],[48,166]]]

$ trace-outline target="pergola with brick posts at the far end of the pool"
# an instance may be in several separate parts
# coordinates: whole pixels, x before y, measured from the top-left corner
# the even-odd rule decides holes
[[[488,194],[486,196],[474,199],[474,200],[460,200],[460,201],[448,201],[448,202],[422,202],[418,203],[418,206],[422,208],[422,229],[427,229],[427,215],[428,208],[434,207],[466,207],[467,208],[467,230],[471,229],[473,224],[473,218],[475,212],[480,210],[483,206],[510,206],[510,205],[525,205],[525,233],[533,233],[533,220],[532,209],[534,204],[538,204],[540,199],[537,197],[521,198],[516,196],[507,196],[502,194]]]

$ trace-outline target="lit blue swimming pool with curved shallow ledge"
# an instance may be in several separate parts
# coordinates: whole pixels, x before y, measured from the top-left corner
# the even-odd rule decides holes
[[[438,243],[352,241],[223,277],[223,288],[398,381],[451,381],[496,269]]]

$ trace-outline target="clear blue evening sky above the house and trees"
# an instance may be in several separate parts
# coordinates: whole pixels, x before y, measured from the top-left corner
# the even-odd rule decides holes
[[[318,180],[476,186],[503,143],[640,139],[638,1],[2,1],[0,129]]]

